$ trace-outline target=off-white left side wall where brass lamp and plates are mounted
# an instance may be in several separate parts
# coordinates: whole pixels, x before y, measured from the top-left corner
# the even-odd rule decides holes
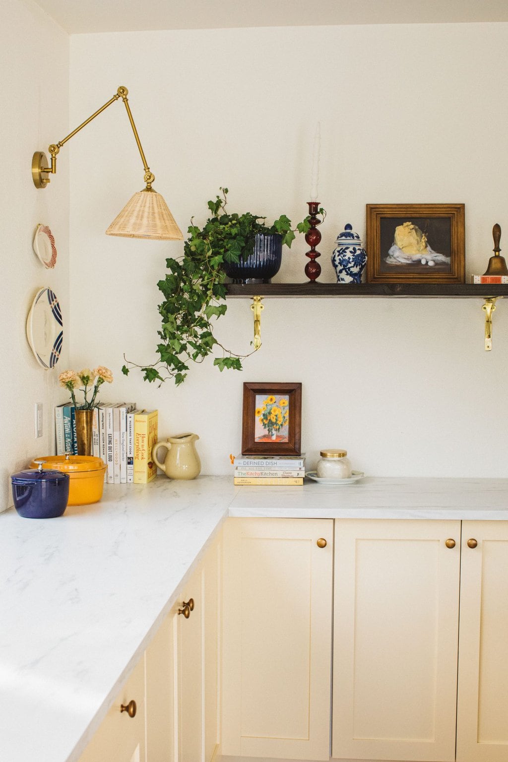
[[[54,452],[53,408],[62,402],[58,370],[37,364],[25,331],[27,312],[42,287],[51,287],[62,306],[64,367],[69,354],[69,165],[62,159],[58,177],[43,191],[34,187],[30,173],[34,151],[47,153],[69,123],[69,37],[30,0],[2,0],[0,28],[2,511],[11,501],[9,475],[31,458]],[[53,271],[43,267],[32,249],[37,223],[49,225],[55,236]],[[36,402],[43,403],[43,437],[37,440]]]

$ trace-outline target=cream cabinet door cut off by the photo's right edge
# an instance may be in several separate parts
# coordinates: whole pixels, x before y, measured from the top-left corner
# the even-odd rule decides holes
[[[458,762],[508,760],[507,591],[508,522],[462,522]]]

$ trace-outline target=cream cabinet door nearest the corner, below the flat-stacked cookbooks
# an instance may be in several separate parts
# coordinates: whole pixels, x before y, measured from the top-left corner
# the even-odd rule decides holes
[[[332,565],[332,520],[226,522],[222,754],[329,758]]]

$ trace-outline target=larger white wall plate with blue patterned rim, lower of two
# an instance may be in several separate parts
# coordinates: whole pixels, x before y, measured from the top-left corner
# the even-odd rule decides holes
[[[62,310],[50,288],[37,291],[27,317],[27,339],[35,359],[43,368],[56,366],[62,351]]]

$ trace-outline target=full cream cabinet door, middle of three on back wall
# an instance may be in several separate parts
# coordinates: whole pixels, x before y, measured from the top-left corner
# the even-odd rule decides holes
[[[459,571],[459,521],[336,521],[333,757],[455,759]]]

